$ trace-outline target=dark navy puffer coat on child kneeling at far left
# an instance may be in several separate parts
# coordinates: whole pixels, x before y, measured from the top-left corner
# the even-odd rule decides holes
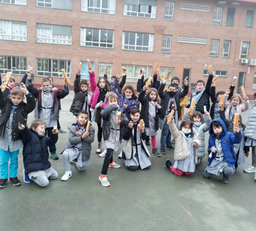
[[[22,154],[25,174],[51,167],[47,146],[54,145],[58,141],[58,133],[54,135],[51,132],[49,137],[45,135],[40,137],[32,129],[28,129],[27,125],[24,130],[19,131],[24,144]]]

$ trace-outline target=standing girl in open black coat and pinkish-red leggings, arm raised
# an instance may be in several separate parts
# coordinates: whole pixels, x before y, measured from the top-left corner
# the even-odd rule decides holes
[[[145,97],[146,90],[148,95]],[[145,131],[148,136],[151,136],[152,154],[160,157],[156,148],[156,138],[158,130],[158,114],[161,113],[161,106],[156,102],[158,97],[158,91],[155,88],[149,88],[144,86],[139,95],[139,101],[141,102],[141,119],[145,122]]]

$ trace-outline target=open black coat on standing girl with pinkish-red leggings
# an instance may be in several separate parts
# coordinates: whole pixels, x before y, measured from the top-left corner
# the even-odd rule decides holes
[[[145,90],[141,90],[140,95],[139,95],[139,101],[141,102],[141,119],[144,120],[145,123],[145,128],[149,128],[149,113],[148,113],[148,109],[149,109],[149,101],[150,99],[148,98],[148,96],[145,97],[146,91]],[[159,129],[159,119],[158,119],[158,115],[162,112],[162,109],[157,109],[155,107],[155,130],[157,131]]]

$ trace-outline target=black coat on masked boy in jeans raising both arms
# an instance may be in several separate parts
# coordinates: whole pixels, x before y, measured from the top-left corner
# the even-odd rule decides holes
[[[159,87],[159,97],[161,98],[161,106],[162,106],[161,114],[159,115],[159,117],[161,119],[164,119],[165,112],[167,108],[170,106],[168,105],[170,96],[168,91],[163,91],[164,87],[165,87],[165,84],[161,83]],[[188,92],[189,92],[189,85],[184,85],[184,90],[176,91],[174,95],[175,103],[177,106],[176,110],[178,111],[178,118],[181,117],[181,98],[187,96]]]

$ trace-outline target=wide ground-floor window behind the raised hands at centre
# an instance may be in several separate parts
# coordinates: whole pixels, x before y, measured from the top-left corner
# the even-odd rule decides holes
[[[126,82],[138,82],[139,75],[141,73],[141,70],[144,70],[144,79],[151,76],[152,67],[151,66],[138,66],[138,65],[127,65],[127,64],[121,64],[121,67],[126,67]]]

